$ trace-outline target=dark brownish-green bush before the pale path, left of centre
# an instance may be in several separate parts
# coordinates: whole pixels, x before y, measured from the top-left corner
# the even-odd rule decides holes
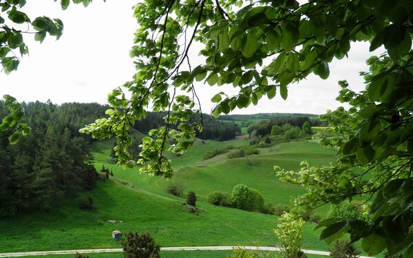
[[[125,258],[158,258],[160,246],[155,244],[149,233],[139,234],[137,232],[128,232],[123,240],[123,256]]]

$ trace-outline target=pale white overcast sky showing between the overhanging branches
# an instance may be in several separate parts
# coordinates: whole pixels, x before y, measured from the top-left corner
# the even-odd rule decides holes
[[[107,94],[130,80],[135,72],[133,60],[129,58],[138,26],[132,17],[134,3],[136,0],[107,0],[106,3],[95,0],[87,8],[71,4],[62,11],[59,1],[28,1],[24,11],[29,17],[59,17],[65,30],[59,41],[47,36],[42,44],[35,42],[33,35],[25,36],[30,56],[22,58],[17,72],[0,73],[0,96],[10,94],[26,102],[50,99],[58,104],[106,103]],[[365,61],[370,55],[367,43],[353,44],[348,58],[330,64],[328,80],[308,76],[289,87],[287,100],[279,94],[272,100],[263,97],[259,105],[236,109],[232,114],[323,114],[327,109],[335,109],[340,105],[335,100],[338,80],[348,80],[354,90],[363,89],[359,72],[368,69]],[[211,111],[210,99],[216,93],[223,90],[230,95],[236,93],[232,87],[210,87],[203,83],[196,87],[204,112]]]

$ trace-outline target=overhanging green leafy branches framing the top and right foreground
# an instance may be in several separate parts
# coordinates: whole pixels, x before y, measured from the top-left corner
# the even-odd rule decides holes
[[[21,6],[24,1],[0,3]],[[142,164],[143,173],[166,177],[172,169],[165,151],[186,151],[202,129],[202,116],[189,120],[202,114],[197,95],[202,86],[197,82],[232,84],[238,89],[234,96],[221,92],[211,99],[217,103],[215,116],[229,114],[256,105],[263,96],[279,94],[285,99],[288,86],[309,74],[328,78],[328,64],[333,58],[344,58],[351,42],[369,41],[370,51],[383,46],[385,54],[368,60],[370,71],[363,73],[366,90],[352,92],[346,82],[340,82],[338,99],[351,108],[324,116],[333,137],[321,142],[337,148],[337,159],[329,167],[304,162],[301,171],[279,174],[306,186],[308,193],[297,203],[308,208],[357,195],[372,198],[368,222],[330,219],[320,224],[326,226],[321,239],[332,241],[350,230],[352,241],[362,239],[370,255],[388,248],[391,255],[412,257],[411,0],[146,0],[136,4],[134,16],[139,23],[131,50],[136,74],[109,94],[109,118],[96,120],[83,132],[95,138],[116,135],[120,164]],[[17,17],[24,18],[19,13]],[[14,22],[27,22],[23,18]],[[59,28],[59,21],[52,23]],[[14,36],[17,32],[6,31],[9,43],[22,44],[20,36]],[[3,45],[4,35],[0,32]],[[202,45],[199,53],[204,61],[191,64],[189,50],[197,43]],[[24,45],[21,49],[25,52]],[[3,56],[2,63],[12,59]],[[131,160],[127,131],[149,109],[167,111],[166,125],[151,130],[142,142],[142,158]],[[169,138],[176,144],[166,144]]]

